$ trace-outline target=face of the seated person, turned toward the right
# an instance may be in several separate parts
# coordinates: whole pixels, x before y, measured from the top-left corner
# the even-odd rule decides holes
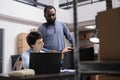
[[[43,39],[41,38],[41,39],[36,40],[35,44],[32,45],[32,47],[35,52],[39,52],[40,49],[43,48],[43,45],[44,45]]]

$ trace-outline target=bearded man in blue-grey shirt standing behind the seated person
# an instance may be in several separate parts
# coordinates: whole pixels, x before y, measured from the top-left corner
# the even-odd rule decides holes
[[[64,23],[56,21],[56,9],[53,6],[45,7],[44,17],[47,22],[38,28],[43,35],[44,48],[61,52],[65,48],[64,36],[73,44],[73,37],[68,27]]]

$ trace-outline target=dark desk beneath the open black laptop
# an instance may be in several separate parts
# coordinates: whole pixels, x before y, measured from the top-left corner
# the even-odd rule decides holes
[[[58,74],[39,74],[27,77],[10,77],[8,74],[0,74],[0,80],[74,80],[75,72],[63,72]]]

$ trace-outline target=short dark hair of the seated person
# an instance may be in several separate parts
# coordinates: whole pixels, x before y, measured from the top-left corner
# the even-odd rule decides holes
[[[26,40],[27,40],[28,45],[32,48],[31,45],[34,45],[36,40],[41,39],[41,38],[42,38],[42,34],[40,32],[32,31],[27,35]]]

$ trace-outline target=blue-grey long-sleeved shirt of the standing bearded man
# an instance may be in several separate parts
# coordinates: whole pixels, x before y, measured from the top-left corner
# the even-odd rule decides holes
[[[44,48],[49,50],[61,51],[65,48],[65,38],[73,44],[73,37],[68,27],[62,23],[55,21],[54,24],[43,23],[38,31],[43,35]]]

